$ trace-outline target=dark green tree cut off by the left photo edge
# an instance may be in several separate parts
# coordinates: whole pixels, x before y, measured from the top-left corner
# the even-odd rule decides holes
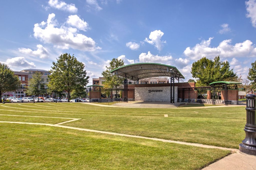
[[[12,91],[20,87],[18,76],[4,63],[0,63],[0,102],[2,102],[2,94]]]

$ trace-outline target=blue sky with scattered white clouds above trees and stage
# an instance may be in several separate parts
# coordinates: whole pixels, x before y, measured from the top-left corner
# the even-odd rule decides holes
[[[15,71],[49,70],[70,53],[91,78],[119,57],[169,64],[188,80],[204,56],[242,75],[256,59],[255,0],[3,1],[0,11],[0,62]]]

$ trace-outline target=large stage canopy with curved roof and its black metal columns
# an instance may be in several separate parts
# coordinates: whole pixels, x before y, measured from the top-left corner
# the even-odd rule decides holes
[[[184,81],[185,77],[174,66],[160,63],[135,63],[121,66],[110,71],[125,77],[124,101],[128,102],[128,80],[138,81],[149,77],[170,77],[170,102],[174,103],[174,81]],[[172,90],[173,86],[173,90]]]

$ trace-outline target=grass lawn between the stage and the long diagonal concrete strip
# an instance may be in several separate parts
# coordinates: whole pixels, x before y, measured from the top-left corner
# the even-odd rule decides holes
[[[242,106],[145,109],[84,103],[23,103],[1,104],[0,109],[1,114],[81,119],[63,124],[66,126],[237,149],[245,136],[246,111]],[[168,117],[164,117],[164,114],[168,114]],[[21,118],[20,122],[24,119]]]

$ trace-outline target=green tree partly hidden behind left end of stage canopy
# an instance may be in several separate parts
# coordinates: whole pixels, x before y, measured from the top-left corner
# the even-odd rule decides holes
[[[109,67],[106,66],[106,70],[101,73],[105,79],[104,85],[108,86],[109,88],[118,88],[121,84],[123,84],[123,77],[118,76],[115,73],[110,73],[111,70],[121,66],[124,66],[124,61],[122,59],[113,58],[110,61]]]

